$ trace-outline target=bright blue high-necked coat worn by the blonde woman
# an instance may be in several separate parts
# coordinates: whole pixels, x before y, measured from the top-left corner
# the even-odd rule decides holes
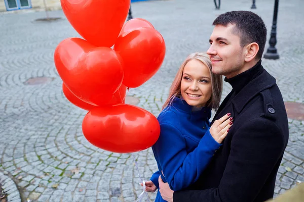
[[[173,190],[181,190],[197,181],[221,145],[209,132],[211,110],[204,107],[195,111],[194,108],[174,98],[172,105],[158,117],[161,134],[152,149],[159,171],[150,178],[158,188],[160,175]],[[196,153],[192,153],[193,150]],[[155,201],[165,200],[158,192]]]

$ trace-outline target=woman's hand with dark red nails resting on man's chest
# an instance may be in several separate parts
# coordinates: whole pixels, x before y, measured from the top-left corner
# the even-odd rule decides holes
[[[212,126],[210,127],[210,134],[215,141],[219,144],[223,141],[226,137],[227,133],[229,132],[230,127],[233,124],[233,118],[229,118],[231,116],[230,113],[226,114],[222,118],[213,122]]]

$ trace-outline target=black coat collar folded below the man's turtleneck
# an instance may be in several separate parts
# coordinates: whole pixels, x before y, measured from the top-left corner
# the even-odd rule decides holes
[[[250,81],[242,90],[234,97],[233,105],[238,113],[240,113],[245,105],[259,92],[270,88],[276,84],[276,79],[266,70]]]

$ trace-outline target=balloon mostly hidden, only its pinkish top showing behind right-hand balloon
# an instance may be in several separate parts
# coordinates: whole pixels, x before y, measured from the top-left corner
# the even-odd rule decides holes
[[[119,36],[125,36],[130,31],[133,31],[135,29],[142,28],[142,27],[149,27],[149,28],[154,29],[154,26],[149,21],[142,19],[142,18],[133,18],[131,20],[128,20],[124,24]]]

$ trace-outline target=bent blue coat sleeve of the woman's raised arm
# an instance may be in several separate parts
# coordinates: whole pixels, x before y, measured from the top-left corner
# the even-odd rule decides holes
[[[153,146],[155,157],[170,187],[173,190],[186,188],[198,180],[220,144],[208,130],[196,152],[187,154],[186,142],[180,130],[168,123],[160,126],[160,138]]]

